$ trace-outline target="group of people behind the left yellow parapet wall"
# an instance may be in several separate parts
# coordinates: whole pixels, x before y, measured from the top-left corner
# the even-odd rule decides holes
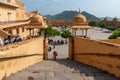
[[[11,36],[11,35],[8,35],[7,38],[4,38],[2,40],[2,38],[0,38],[0,46],[2,45],[7,45],[7,44],[11,44],[11,43],[16,43],[16,42],[21,42],[22,41],[22,38],[20,36]]]

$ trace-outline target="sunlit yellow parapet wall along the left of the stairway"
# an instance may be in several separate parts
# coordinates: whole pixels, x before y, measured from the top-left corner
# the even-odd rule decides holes
[[[0,47],[0,80],[43,60],[43,38]]]

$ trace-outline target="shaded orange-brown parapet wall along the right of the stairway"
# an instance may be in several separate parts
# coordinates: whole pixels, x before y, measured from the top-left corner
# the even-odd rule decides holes
[[[120,77],[120,45],[74,38],[73,56],[75,61],[100,68]]]

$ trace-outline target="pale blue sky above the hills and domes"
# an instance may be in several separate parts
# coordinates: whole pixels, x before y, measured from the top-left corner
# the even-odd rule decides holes
[[[120,0],[20,0],[27,11],[55,15],[64,10],[86,11],[97,17],[120,17]]]

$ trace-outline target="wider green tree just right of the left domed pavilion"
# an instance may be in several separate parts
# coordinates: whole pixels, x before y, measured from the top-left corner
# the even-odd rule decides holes
[[[48,26],[48,28],[44,30],[44,35],[47,37],[59,36],[60,32],[58,30],[54,30],[52,26]]]

